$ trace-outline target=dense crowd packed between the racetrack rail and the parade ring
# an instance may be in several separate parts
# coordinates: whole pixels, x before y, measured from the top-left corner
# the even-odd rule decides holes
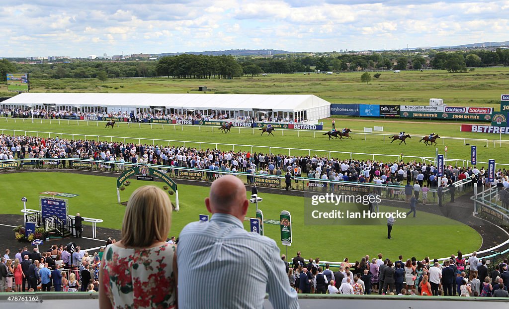
[[[425,187],[437,188],[437,168],[433,164],[405,161],[341,160],[319,156],[288,156],[249,151],[222,151],[181,146],[163,146],[95,140],[70,140],[35,136],[0,135],[0,160],[13,159],[89,159],[111,164],[111,171],[123,171],[124,163],[154,164],[161,167],[185,167],[207,171],[213,178],[214,171],[246,172],[253,175],[307,177],[331,182],[374,183],[379,185],[417,185],[416,191]],[[66,167],[66,161],[59,161]],[[178,170],[173,169],[178,175]],[[457,167],[448,165],[441,178],[442,186],[473,177],[478,185],[509,187],[505,169],[496,171],[493,184],[488,182],[484,167]],[[253,177],[248,182],[252,183]],[[425,184],[426,182],[426,184]],[[332,186],[332,185],[331,185]]]

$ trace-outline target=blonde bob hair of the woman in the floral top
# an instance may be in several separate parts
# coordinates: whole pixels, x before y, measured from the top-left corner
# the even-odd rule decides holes
[[[165,241],[172,219],[168,194],[154,186],[136,189],[129,197],[122,223],[122,243],[126,247],[146,247]]]

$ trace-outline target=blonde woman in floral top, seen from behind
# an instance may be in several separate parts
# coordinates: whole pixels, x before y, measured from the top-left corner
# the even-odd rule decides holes
[[[99,269],[99,307],[175,308],[177,255],[165,242],[172,219],[168,194],[136,189],[127,203],[122,239],[106,247]]]

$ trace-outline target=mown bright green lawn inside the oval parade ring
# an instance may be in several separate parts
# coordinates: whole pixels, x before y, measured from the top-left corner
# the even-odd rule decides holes
[[[22,209],[20,197],[28,199],[27,208],[40,209],[39,192],[56,191],[79,194],[69,198],[69,213],[79,212],[82,216],[100,218],[104,222],[99,226],[120,229],[125,207],[117,203],[116,182],[113,177],[78,175],[72,173],[43,172],[15,173],[0,175],[3,194],[0,195],[0,213],[20,214]],[[139,186],[162,183],[149,183],[131,179],[132,184],[121,192],[121,200],[126,201],[129,195]],[[173,213],[170,235],[178,236],[185,224],[197,221],[199,214],[207,214],[204,198],[208,188],[179,185],[180,211]],[[279,220],[281,210],[292,214],[293,244],[288,254],[294,256],[297,250],[302,251],[305,259],[319,257],[322,261],[340,261],[349,257],[350,261],[359,260],[361,256],[383,252],[391,260],[399,254],[416,256],[444,257],[456,252],[477,250],[482,239],[472,228],[436,215],[418,212],[418,221],[410,225],[398,222],[395,225],[392,240],[386,239],[386,225],[379,226],[324,226],[304,224],[304,198],[276,194],[261,194],[264,200],[259,204],[265,219]],[[171,196],[175,202],[175,195]],[[381,207],[381,211],[394,211],[394,208]],[[248,217],[254,217],[256,208],[250,204]],[[400,209],[400,211],[405,211]],[[406,220],[406,219],[404,219]],[[418,224],[418,225],[417,225]],[[244,222],[246,229],[249,223]],[[281,252],[286,248],[280,245],[279,226],[265,224],[265,235],[278,243]],[[442,237],[447,235],[447,237]],[[440,243],[436,239],[440,238]],[[465,241],[468,240],[468,241]]]

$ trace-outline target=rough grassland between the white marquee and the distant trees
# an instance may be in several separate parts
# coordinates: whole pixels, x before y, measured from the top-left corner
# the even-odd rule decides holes
[[[476,68],[465,73],[444,70],[379,73],[380,78],[373,79],[369,85],[360,82],[362,72],[269,74],[233,80],[32,79],[30,91],[199,93],[199,86],[207,86],[207,93],[315,94],[331,103],[344,104],[428,105],[430,98],[443,98],[449,106],[484,106],[499,110],[500,94],[509,88],[509,67]],[[7,85],[2,84],[0,95],[13,93],[7,92]]]

